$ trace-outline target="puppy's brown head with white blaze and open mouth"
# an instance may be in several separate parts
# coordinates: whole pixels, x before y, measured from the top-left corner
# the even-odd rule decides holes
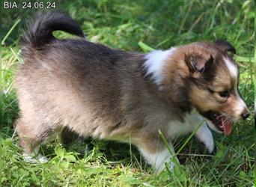
[[[211,129],[229,135],[232,120],[249,117],[238,90],[239,68],[232,58],[236,50],[230,43],[218,40],[191,44],[184,52],[189,101]]]

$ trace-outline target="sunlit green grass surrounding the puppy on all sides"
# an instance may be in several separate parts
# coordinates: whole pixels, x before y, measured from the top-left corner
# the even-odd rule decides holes
[[[237,49],[240,91],[254,110],[254,1],[61,1],[88,40],[137,52],[224,38]],[[236,123],[228,137],[214,133],[216,153],[188,135],[174,142],[182,165],[156,175],[129,144],[80,139],[67,149],[43,145],[46,164],[24,162],[13,127],[19,109],[13,78],[19,28],[36,10],[1,10],[1,186],[253,186],[254,119]],[[57,32],[60,38],[70,37]],[[183,150],[180,150],[183,148]]]

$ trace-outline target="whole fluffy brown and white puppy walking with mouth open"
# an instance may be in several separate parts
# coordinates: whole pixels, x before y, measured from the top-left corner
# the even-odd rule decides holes
[[[21,40],[16,129],[29,159],[40,143],[70,129],[85,137],[131,141],[161,171],[171,153],[159,130],[172,147],[171,140],[192,132],[204,118],[196,137],[212,152],[207,124],[229,135],[232,120],[249,116],[237,64],[228,55],[235,49],[226,41],[138,54],[84,38],[57,40],[55,30],[84,37],[73,19],[52,12],[37,15]]]

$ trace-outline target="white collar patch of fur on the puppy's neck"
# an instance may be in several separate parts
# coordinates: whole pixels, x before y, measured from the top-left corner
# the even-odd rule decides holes
[[[146,70],[146,75],[152,74],[153,82],[159,86],[159,90],[162,89],[161,84],[163,80],[162,69],[165,65],[165,60],[171,56],[171,54],[176,50],[175,47],[168,49],[166,51],[154,50],[153,52],[147,53],[145,55],[144,69]]]

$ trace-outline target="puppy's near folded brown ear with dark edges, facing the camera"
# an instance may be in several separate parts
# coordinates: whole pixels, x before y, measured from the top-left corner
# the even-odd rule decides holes
[[[213,62],[213,56],[210,55],[209,59],[205,59],[203,56],[192,53],[189,55],[185,55],[186,65],[189,67],[190,73],[204,73],[205,67],[207,64]]]

